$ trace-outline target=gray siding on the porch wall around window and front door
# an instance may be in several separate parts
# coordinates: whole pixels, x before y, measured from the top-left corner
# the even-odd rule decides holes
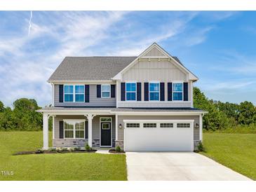
[[[112,117],[112,139],[116,137],[116,121],[115,116],[95,116],[93,118],[93,139],[100,139],[100,117]],[[60,139],[60,128],[59,122],[63,119],[84,119],[87,121],[85,116],[55,116],[54,118],[54,137],[55,139]],[[65,139],[63,139],[65,140]]]

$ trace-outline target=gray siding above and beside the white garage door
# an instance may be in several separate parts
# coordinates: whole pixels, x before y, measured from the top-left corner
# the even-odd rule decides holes
[[[194,119],[194,123],[199,124],[199,116],[118,116],[118,125],[123,124],[124,119],[131,120],[184,120]],[[194,128],[194,140],[199,140],[199,128]],[[123,128],[118,129],[118,140],[123,140]]]

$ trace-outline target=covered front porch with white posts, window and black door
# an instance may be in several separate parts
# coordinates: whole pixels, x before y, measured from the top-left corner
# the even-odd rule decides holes
[[[41,110],[43,149],[48,146],[48,118],[53,117],[53,147],[113,148],[117,141],[117,117],[110,110]]]

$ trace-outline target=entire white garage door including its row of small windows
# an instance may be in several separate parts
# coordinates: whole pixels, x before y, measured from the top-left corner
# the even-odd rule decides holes
[[[125,151],[194,151],[194,120],[124,120]]]

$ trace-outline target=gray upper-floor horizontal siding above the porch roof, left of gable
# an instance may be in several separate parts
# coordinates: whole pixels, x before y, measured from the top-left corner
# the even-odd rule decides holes
[[[64,100],[64,97],[63,97]],[[114,98],[97,98],[97,85],[90,85],[90,102],[59,102],[59,85],[54,85],[54,106],[106,106],[115,107],[116,97]]]

